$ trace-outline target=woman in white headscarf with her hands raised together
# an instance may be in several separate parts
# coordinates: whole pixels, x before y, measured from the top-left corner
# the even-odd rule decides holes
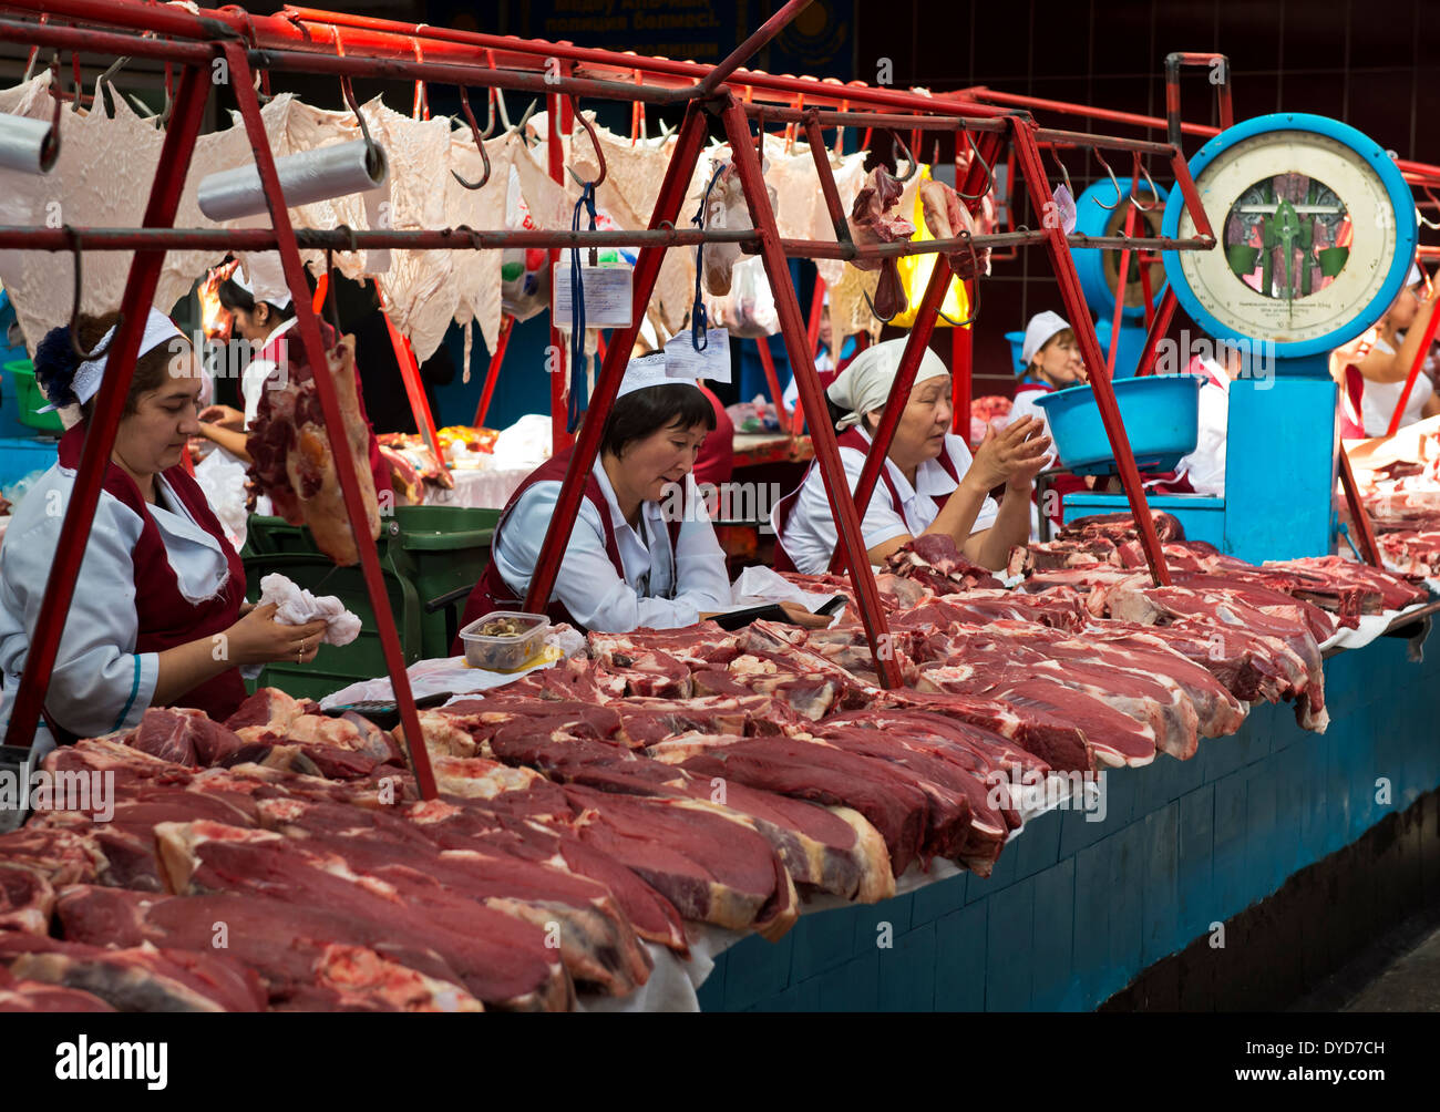
[[[851,491],[865,465],[904,344],[899,338],[865,349],[827,392],[832,411],[838,411],[840,461]],[[1020,421],[1004,432],[991,429],[972,458],[965,441],[950,432],[950,373],[926,349],[864,511],[861,532],[873,563],[920,534],[943,533],[968,559],[998,570],[1011,547],[1028,540],[1031,483],[1044,468],[1050,447],[1040,422]],[[999,485],[1005,496],[996,504],[989,491]],[[812,575],[829,568],[838,536],[818,467],[811,467],[801,487],[780,500],[770,520],[780,542],[778,568],[789,565]]]

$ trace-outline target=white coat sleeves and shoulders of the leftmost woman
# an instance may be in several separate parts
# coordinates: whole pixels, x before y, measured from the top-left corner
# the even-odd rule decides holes
[[[0,546],[0,735],[10,722],[73,485],[75,471],[55,464],[16,507]],[[180,592],[192,602],[213,598],[229,576],[220,542],[192,520],[161,475],[156,485],[166,506],[151,504],[150,516]],[[137,725],[160,678],[160,654],[135,653],[132,552],[143,524],[134,510],[101,491],[46,699],[56,722],[81,737]],[[42,722],[36,746],[49,750],[53,743]]]

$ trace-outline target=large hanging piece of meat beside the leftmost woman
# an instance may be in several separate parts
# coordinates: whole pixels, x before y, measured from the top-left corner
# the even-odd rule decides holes
[[[336,385],[344,419],[344,442],[354,461],[366,524],[372,537],[380,536],[380,507],[370,472],[370,429],[360,413],[356,393],[354,337],[346,336],[327,353],[330,377]],[[275,513],[291,524],[307,524],[315,546],[340,566],[360,562],[360,550],[350,530],[340,475],[330,449],[320,393],[304,350],[291,349],[284,385],[266,383],[259,411],[245,442],[251,454],[251,508],[258,494],[268,494]]]

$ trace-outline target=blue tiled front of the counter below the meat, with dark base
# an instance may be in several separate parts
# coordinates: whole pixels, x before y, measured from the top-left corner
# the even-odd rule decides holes
[[[1326,733],[1261,703],[1191,761],[1107,771],[1103,821],[1032,815],[988,879],[948,869],[878,905],[802,915],[778,943],[739,941],[698,1005],[1282,1007],[1440,903],[1433,611],[1329,655]]]

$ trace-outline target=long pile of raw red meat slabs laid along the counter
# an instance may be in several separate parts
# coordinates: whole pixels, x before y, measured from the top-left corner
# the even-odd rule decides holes
[[[0,1010],[625,995],[693,925],[773,939],[805,893],[883,900],[935,858],[988,876],[1012,785],[1187,759],[1259,699],[1323,729],[1319,642],[1416,593],[1328,560],[1236,566],[1165,520],[1176,585],[1153,588],[1129,524],[1017,553],[1018,591],[945,540],[896,553],[901,690],[852,621],[590,634],[583,658],[422,712],[432,802],[406,739],[363,717],[274,690],[223,726],[153,709],[46,759],[112,774],[108,821],[46,810],[0,837]]]

